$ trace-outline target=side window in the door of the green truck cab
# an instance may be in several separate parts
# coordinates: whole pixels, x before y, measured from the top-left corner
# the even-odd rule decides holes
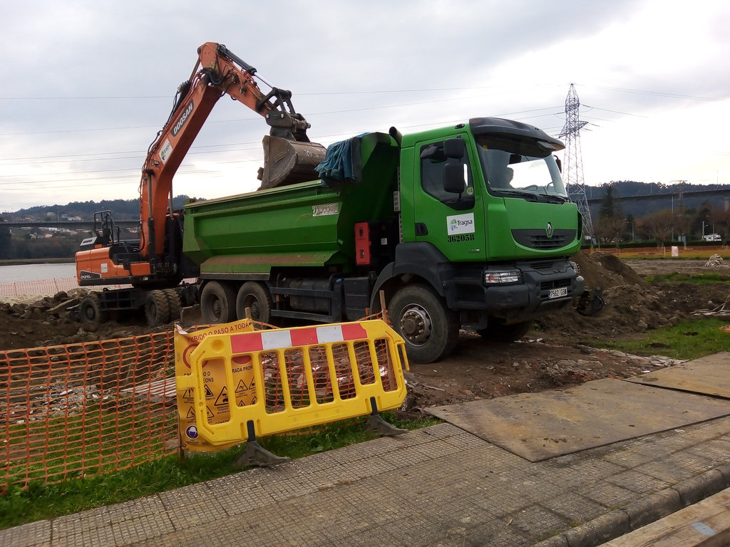
[[[420,185],[423,191],[451,209],[471,209],[474,206],[474,182],[469,168],[469,157],[447,158],[444,143],[426,144],[420,149]],[[464,168],[464,188],[461,193],[447,192],[444,188],[447,165],[461,164]]]

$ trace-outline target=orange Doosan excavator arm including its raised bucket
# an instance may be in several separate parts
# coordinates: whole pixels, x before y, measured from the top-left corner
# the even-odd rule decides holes
[[[291,91],[272,87],[262,93],[253,66],[222,44],[207,42],[199,47],[198,56],[191,78],[178,88],[172,112],[150,145],[142,168],[139,253],[150,264],[151,276],[175,268],[174,263],[162,260],[166,224],[175,220],[172,178],[220,97],[228,95],[245,104],[263,116],[271,128],[264,137],[261,189],[317,178],[314,167],[326,152],[307,138],[310,124],[294,111]]]

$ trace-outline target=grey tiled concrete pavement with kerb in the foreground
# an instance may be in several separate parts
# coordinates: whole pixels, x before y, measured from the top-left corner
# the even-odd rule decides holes
[[[537,463],[442,423],[2,530],[0,545],[588,546],[728,486],[728,416]]]

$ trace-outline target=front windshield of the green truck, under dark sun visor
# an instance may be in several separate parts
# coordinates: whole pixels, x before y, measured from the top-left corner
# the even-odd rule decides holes
[[[491,194],[567,200],[550,143],[518,136],[480,135],[477,148]]]

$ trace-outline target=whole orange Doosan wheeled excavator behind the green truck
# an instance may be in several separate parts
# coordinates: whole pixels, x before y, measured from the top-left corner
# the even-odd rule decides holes
[[[172,112],[142,166],[139,240],[120,239],[111,213],[98,212],[93,235],[81,242],[76,253],[80,286],[131,285],[91,292],[83,298],[79,308],[82,325],[93,329],[109,313],[142,309],[150,325],[160,325],[179,316],[181,298],[183,303],[193,302],[196,287],[180,282],[196,277],[198,271],[182,252],[183,215],[172,208],[172,178],[223,95],[258,112],[270,127],[263,141],[260,189],[318,178],[314,168],[325,158],[326,150],[307,138],[310,124],[294,111],[291,91],[269,86],[271,90],[263,93],[255,74],[253,66],[223,44],[207,42],[198,48],[191,78],[177,89]]]

